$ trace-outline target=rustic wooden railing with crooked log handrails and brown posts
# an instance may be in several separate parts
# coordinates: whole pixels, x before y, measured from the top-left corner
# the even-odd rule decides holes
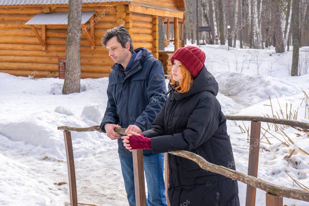
[[[228,120],[241,120],[251,121],[251,133],[250,133],[250,150],[249,150],[249,161],[248,161],[248,174],[231,170],[229,168],[218,166],[207,162],[201,156],[184,150],[169,152],[173,155],[178,155],[183,158],[188,158],[196,162],[202,169],[209,170],[211,172],[221,174],[231,179],[235,179],[242,183],[247,184],[246,193],[246,206],[254,206],[256,201],[256,188],[266,191],[266,206],[282,206],[283,197],[303,200],[309,202],[309,192],[283,187],[266,182],[262,179],[257,178],[258,162],[259,162],[259,149],[260,149],[260,129],[261,122],[269,122],[274,124],[285,124],[288,126],[294,126],[304,129],[309,129],[309,123],[295,121],[295,120],[284,120],[261,116],[225,116]],[[74,168],[74,157],[70,131],[77,132],[89,132],[89,131],[100,131],[99,125],[95,125],[88,128],[74,128],[68,126],[58,127],[59,130],[64,130],[64,139],[66,145],[66,156],[69,173],[69,187],[70,187],[70,202],[71,206],[77,206],[77,192],[76,192],[76,179],[75,179],[75,168]],[[124,134],[125,128],[116,128],[116,132]],[[166,196],[168,188],[168,163],[167,153],[165,155],[165,185],[166,185]],[[144,179],[144,162],[142,149],[133,150],[133,169],[134,169],[134,186],[135,186],[135,198],[137,206],[146,206],[146,192],[145,192],[145,179]],[[168,199],[168,196],[167,196]],[[168,205],[169,201],[167,200]]]

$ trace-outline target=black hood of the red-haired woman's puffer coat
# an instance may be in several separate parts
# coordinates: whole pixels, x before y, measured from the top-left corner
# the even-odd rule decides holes
[[[172,91],[172,86],[168,84],[168,89]],[[195,79],[193,79],[193,84],[189,91],[185,93],[173,92],[174,98],[176,100],[183,99],[185,97],[194,95],[201,91],[209,91],[217,96],[219,91],[218,82],[214,78],[214,76],[207,71],[205,65],[201,69],[200,73],[197,75]]]

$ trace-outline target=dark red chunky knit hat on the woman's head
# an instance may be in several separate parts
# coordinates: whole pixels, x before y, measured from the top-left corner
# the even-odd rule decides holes
[[[205,53],[200,48],[188,46],[177,49],[171,57],[171,63],[173,65],[175,59],[180,61],[196,78],[204,66],[205,58]]]

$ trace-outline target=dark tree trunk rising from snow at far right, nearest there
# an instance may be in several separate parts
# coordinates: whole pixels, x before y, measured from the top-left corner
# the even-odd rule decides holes
[[[299,58],[299,0],[293,0],[293,58],[291,76],[298,75],[298,58]]]

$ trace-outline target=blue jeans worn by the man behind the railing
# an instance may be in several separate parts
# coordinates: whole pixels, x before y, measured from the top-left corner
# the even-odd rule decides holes
[[[144,154],[144,170],[148,188],[146,206],[167,206],[164,185],[164,153]],[[130,206],[135,206],[133,159],[119,154],[125,191]]]

